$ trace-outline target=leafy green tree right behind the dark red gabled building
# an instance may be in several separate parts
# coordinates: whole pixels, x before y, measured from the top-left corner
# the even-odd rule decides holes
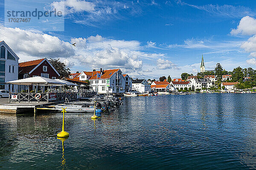
[[[60,74],[59,78],[63,78],[63,77],[69,77],[70,73],[70,69],[67,68],[67,66],[60,61],[60,59],[49,59],[49,62],[51,63],[51,65],[55,68],[55,70],[58,71],[58,73]]]

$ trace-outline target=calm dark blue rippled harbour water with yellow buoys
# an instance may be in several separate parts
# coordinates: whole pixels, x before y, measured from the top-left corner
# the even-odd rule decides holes
[[[67,113],[0,115],[3,169],[254,169],[256,94],[125,98],[95,121]]]

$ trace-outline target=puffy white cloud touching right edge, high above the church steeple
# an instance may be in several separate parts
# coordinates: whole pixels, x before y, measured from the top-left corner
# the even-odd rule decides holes
[[[233,29],[231,34],[243,34],[243,35],[253,35],[256,34],[256,19],[253,17],[242,17],[239,25],[236,29]]]

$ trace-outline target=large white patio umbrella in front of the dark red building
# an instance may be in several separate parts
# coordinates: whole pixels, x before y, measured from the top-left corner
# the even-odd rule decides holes
[[[14,84],[14,85],[65,85],[64,82],[60,82],[54,79],[48,79],[40,76],[29,77],[26,79],[12,80],[6,83]]]

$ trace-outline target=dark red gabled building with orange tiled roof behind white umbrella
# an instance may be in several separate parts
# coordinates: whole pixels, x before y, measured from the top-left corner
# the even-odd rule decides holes
[[[60,76],[60,74],[52,66],[52,64],[48,61],[47,58],[19,63],[18,79],[24,79],[35,76],[41,76],[49,79],[57,79]],[[42,86],[41,88],[44,88],[44,86]],[[29,86],[20,85],[19,89],[27,90],[29,89]],[[30,87],[29,91],[31,90],[35,90],[34,85]]]

